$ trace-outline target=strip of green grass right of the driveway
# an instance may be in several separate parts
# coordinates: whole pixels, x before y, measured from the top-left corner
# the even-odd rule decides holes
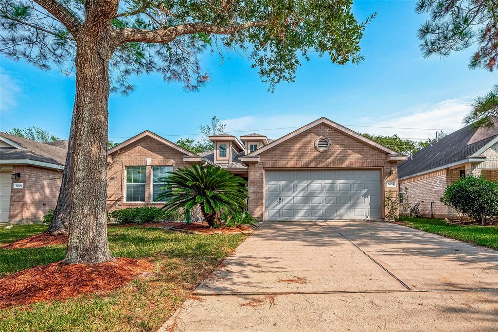
[[[403,217],[404,225],[498,250],[498,226],[464,226],[441,219]]]

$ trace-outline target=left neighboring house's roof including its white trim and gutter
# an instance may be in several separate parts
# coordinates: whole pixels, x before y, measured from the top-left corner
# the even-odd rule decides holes
[[[33,164],[62,169],[66,163],[67,148],[59,147],[67,144],[64,141],[41,143],[1,131],[0,140],[11,146],[0,148],[2,164]]]

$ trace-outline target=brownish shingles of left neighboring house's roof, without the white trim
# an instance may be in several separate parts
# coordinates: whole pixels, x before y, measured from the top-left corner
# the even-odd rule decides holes
[[[0,159],[29,159],[51,164],[64,165],[66,163],[67,149],[59,147],[67,143],[58,141],[51,144],[35,142],[30,139],[17,137],[0,131],[0,136],[20,145],[23,149],[1,147]],[[59,146],[56,146],[59,145]],[[66,145],[67,146],[67,145]]]

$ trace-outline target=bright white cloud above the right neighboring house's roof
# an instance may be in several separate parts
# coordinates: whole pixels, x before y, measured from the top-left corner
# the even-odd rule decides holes
[[[463,127],[463,117],[469,112],[469,100],[450,99],[436,105],[421,105],[410,108],[405,112],[386,114],[381,118],[361,118],[361,125],[397,128],[373,128],[373,127],[351,127],[356,131],[372,134],[392,135],[397,134],[406,138],[433,138],[436,129],[442,129],[446,133],[453,132],[449,129],[460,129]],[[398,129],[402,128],[402,129]],[[423,128],[423,129],[410,129]]]

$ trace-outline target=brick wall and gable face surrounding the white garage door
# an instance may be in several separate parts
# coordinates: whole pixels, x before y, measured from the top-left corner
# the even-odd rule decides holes
[[[315,148],[320,137],[329,139],[327,151]],[[322,123],[261,153],[258,163],[249,164],[249,212],[258,219],[264,216],[265,168],[337,167],[377,168],[383,174],[384,186],[387,181],[397,181],[397,163],[388,162],[385,153]],[[391,167],[394,172],[389,175]],[[384,191],[389,189],[397,193],[397,188]]]

